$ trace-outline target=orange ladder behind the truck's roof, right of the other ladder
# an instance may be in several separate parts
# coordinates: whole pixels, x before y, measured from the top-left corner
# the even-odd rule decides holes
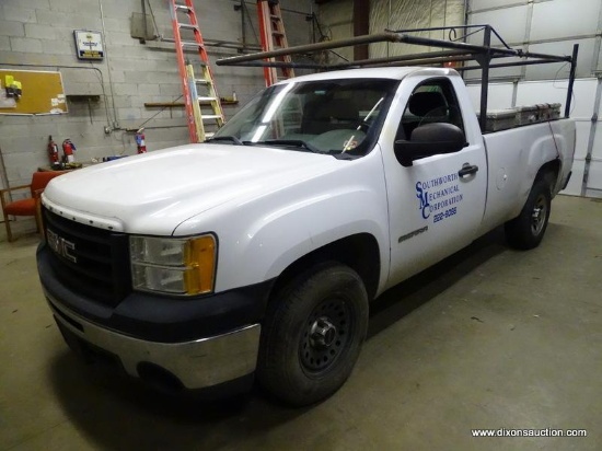
[[[287,48],[287,35],[282,22],[282,13],[278,0],[257,0],[257,13],[259,14],[259,33],[262,36],[262,48],[264,51]],[[278,58],[267,58],[268,61],[291,62],[290,55]],[[280,69],[280,76],[278,74]],[[264,68],[266,86],[270,86],[278,80],[294,77],[292,68]]]

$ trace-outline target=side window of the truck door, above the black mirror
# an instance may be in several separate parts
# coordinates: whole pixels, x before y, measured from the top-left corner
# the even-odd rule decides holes
[[[432,123],[453,124],[464,130],[460,104],[448,79],[432,79],[416,86],[402,115],[395,140],[412,140],[416,127]]]

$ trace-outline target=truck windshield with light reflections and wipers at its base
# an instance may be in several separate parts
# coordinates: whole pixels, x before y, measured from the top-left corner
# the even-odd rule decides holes
[[[340,79],[276,84],[255,96],[208,142],[363,155],[378,138],[397,83]]]

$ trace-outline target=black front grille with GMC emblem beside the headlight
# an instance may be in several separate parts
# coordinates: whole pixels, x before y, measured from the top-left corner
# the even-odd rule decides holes
[[[116,305],[131,290],[128,236],[81,224],[43,208],[57,277],[69,289]]]

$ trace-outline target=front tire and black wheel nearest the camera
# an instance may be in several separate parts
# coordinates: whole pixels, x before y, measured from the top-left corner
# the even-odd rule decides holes
[[[316,403],[349,378],[368,328],[368,294],[351,268],[314,266],[270,303],[262,331],[259,383],[293,406]]]

